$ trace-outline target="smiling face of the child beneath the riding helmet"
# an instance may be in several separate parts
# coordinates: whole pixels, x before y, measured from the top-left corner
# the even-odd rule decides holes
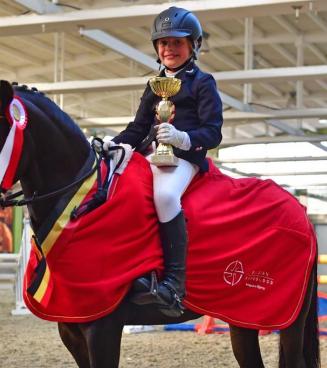
[[[183,65],[192,54],[192,45],[186,37],[165,37],[157,41],[158,56],[168,69]]]

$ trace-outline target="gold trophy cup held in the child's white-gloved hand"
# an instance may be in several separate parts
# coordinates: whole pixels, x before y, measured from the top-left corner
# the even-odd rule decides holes
[[[175,115],[175,105],[168,100],[175,96],[181,88],[181,80],[169,77],[154,77],[149,81],[150,87],[162,100],[156,106],[157,119],[160,123],[171,123]],[[151,163],[156,166],[177,166],[178,158],[174,155],[170,144],[159,143]]]

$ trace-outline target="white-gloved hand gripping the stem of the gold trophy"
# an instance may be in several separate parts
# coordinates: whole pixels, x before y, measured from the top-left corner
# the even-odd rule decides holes
[[[191,148],[190,136],[186,132],[176,129],[172,124],[161,123],[155,128],[158,130],[157,140],[159,143],[171,144],[184,151]]]

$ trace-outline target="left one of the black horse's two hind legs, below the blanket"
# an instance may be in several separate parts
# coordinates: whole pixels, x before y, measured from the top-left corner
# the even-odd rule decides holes
[[[234,356],[240,368],[264,368],[259,331],[229,325]]]

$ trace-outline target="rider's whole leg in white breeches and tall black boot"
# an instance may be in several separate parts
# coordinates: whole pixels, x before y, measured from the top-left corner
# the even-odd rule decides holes
[[[157,296],[138,304],[159,303],[167,315],[181,314],[179,299],[185,294],[185,259],[187,235],[181,196],[198,172],[198,168],[180,159],[178,167],[156,167],[153,172],[154,203],[159,218],[160,236],[164,256],[164,280],[159,284]],[[142,279],[140,280],[142,282]],[[143,280],[144,281],[144,280]],[[141,286],[142,288],[142,286]]]

